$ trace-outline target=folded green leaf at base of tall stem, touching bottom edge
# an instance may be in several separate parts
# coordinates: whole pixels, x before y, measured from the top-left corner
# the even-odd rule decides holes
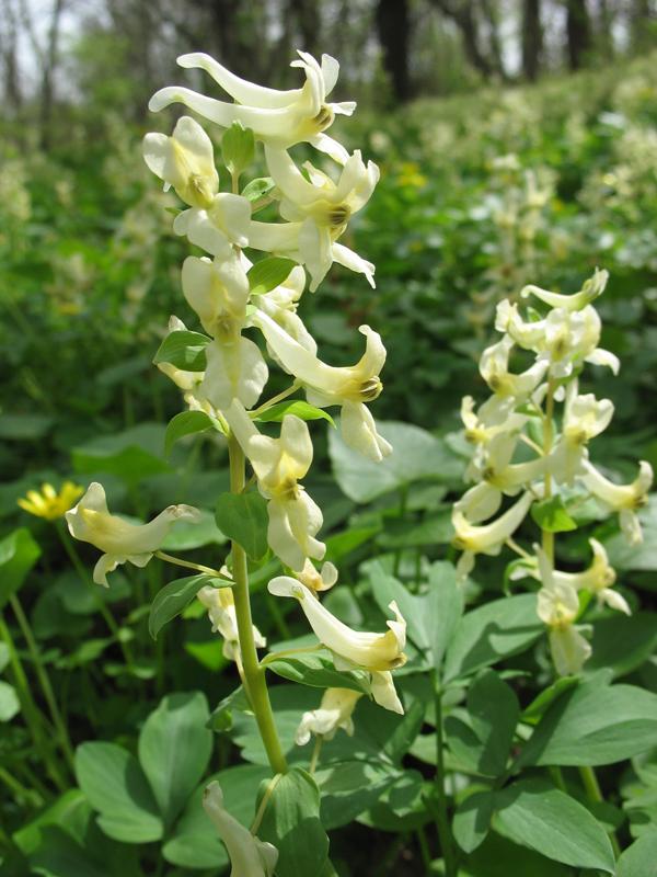
[[[257,835],[278,850],[277,877],[319,874],[328,856],[328,838],[320,821],[320,789],[312,776],[292,767],[264,781],[263,795],[275,783]]]

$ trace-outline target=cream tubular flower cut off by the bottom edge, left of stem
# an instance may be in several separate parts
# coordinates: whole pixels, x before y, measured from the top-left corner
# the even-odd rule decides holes
[[[216,779],[206,788],[203,806],[228,851],[230,877],[273,877],[278,850],[255,838],[226,810],[223,793]]]

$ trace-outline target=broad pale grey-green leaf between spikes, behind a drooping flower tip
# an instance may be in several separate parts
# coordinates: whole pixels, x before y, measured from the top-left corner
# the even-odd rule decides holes
[[[377,421],[381,435],[392,444],[392,454],[381,463],[365,459],[345,445],[339,432],[328,434],[328,454],[335,479],[355,502],[370,502],[417,480],[459,481],[464,462],[441,438],[419,426]]]

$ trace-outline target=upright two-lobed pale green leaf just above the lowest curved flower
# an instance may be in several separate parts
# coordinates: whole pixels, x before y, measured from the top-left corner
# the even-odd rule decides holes
[[[395,600],[407,625],[408,637],[422,651],[431,654],[437,667],[463,611],[462,594],[451,563],[434,563],[425,594],[413,595],[401,582],[389,576],[380,562],[369,567],[369,578],[381,612]]]

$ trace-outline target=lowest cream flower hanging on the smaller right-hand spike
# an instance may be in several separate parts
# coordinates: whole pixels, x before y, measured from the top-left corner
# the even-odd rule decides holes
[[[591,656],[591,647],[574,624],[579,612],[577,591],[569,583],[555,579],[545,553],[538,546],[535,550],[543,583],[538,594],[537,613],[550,628],[554,667],[560,676],[579,673]]]

